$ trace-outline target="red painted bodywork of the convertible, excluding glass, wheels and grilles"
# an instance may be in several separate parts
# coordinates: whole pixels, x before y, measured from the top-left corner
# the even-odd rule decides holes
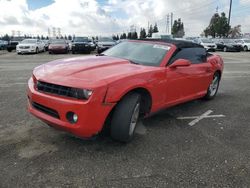
[[[165,45],[165,43],[162,43]],[[91,137],[103,124],[116,103],[136,88],[148,90],[152,97],[150,113],[204,96],[216,71],[223,71],[223,61],[210,56],[206,63],[171,68],[167,65],[176,47],[171,45],[159,67],[131,64],[107,56],[88,56],[56,60],[34,69],[34,78],[57,85],[93,90],[87,101],[36,91],[31,78],[28,83],[28,110],[56,128],[79,137]],[[30,105],[30,101],[58,111],[60,119],[46,115]],[[66,113],[78,114],[71,124]]]

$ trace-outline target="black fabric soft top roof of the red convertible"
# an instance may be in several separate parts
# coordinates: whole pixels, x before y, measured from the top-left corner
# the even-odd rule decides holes
[[[200,44],[196,44],[190,41],[185,41],[185,40],[174,40],[174,39],[138,39],[141,41],[154,41],[154,42],[165,42],[168,44],[173,44],[177,48],[204,48]]]

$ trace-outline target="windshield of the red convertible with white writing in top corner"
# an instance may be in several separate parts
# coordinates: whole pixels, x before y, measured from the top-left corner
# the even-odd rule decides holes
[[[103,55],[127,59],[131,63],[159,66],[170,47],[146,42],[122,42],[105,51]]]

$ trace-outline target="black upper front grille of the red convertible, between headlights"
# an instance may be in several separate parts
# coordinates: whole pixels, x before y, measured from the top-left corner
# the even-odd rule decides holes
[[[37,90],[40,92],[51,93],[51,94],[60,95],[64,97],[83,99],[82,97],[83,90],[78,89],[78,88],[72,88],[72,87],[61,86],[61,85],[38,81]]]

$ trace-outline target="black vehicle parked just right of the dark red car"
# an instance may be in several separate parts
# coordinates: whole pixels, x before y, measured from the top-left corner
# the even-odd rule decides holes
[[[75,37],[72,41],[72,54],[75,53],[90,53],[92,47],[89,43],[88,37]]]

